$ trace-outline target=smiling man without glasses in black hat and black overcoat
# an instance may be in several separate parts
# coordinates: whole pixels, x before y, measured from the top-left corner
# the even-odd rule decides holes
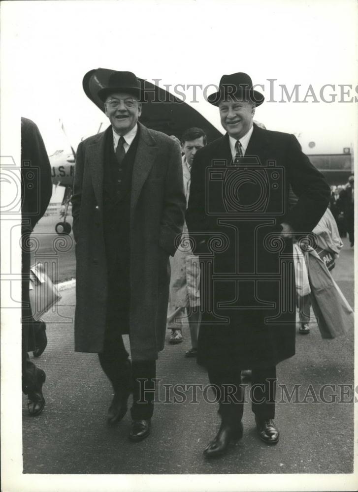
[[[221,417],[207,457],[243,435],[242,369],[252,369],[260,438],[279,440],[276,365],[295,351],[292,237],[312,231],[329,202],[329,186],[296,138],[253,123],[263,100],[246,73],[224,75],[208,101],[227,133],[200,149],[192,167],[186,221],[201,263],[197,360]],[[298,200],[289,210],[290,185]]]

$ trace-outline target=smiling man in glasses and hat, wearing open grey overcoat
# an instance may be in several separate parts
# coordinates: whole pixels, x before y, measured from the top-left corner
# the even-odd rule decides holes
[[[133,392],[132,441],[150,432],[168,258],[186,208],[180,149],[138,122],[142,95],[131,72],[113,72],[93,94],[111,125],[79,144],[72,196],[75,350],[97,352],[112,383],[109,425],[124,417]],[[131,362],[123,334],[130,337]]]

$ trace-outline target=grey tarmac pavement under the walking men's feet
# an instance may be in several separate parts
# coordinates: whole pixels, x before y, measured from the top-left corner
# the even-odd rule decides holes
[[[334,278],[353,306],[353,249],[344,240]],[[48,346],[35,360],[47,375],[46,406],[35,418],[23,398],[23,463],[25,473],[46,474],[246,474],[352,473],[354,446],[354,334],[333,340],[321,338],[317,325],[309,335],[296,337],[296,355],[277,367],[275,422],[280,441],[260,441],[250,403],[245,404],[243,438],[222,458],[202,455],[220,422],[215,404],[203,392],[185,392],[173,402],[163,384],[208,385],[206,371],[186,359],[189,329],[178,345],[168,343],[157,363],[161,378],[150,436],[128,440],[130,412],[114,428],[106,426],[111,386],[100,369],[97,354],[74,352],[75,291],[61,292],[56,312],[44,316]],[[127,339],[128,342],[128,339]],[[326,384],[331,385],[322,387]],[[283,388],[285,386],[285,389]],[[299,385],[294,393],[294,385]],[[346,385],[346,386],[342,386]],[[172,388],[173,386],[171,386]],[[168,391],[168,390],[167,390]],[[293,392],[291,402],[287,394]],[[320,393],[321,391],[321,393]],[[323,391],[323,393],[322,393]],[[212,399],[209,391],[206,395]],[[183,400],[184,397],[178,400]],[[317,401],[316,401],[317,400]],[[333,400],[331,403],[323,400]],[[334,401],[335,400],[335,401]],[[298,490],[298,489],[297,489]]]

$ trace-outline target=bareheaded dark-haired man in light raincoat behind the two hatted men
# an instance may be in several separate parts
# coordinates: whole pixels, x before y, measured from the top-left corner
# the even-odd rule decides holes
[[[207,143],[207,137],[201,128],[189,128],[183,133],[182,166],[183,183],[187,203],[189,201],[190,180],[193,160],[196,152]],[[192,348],[185,354],[186,357],[195,357],[197,348],[197,334],[200,326],[200,265],[197,256],[193,255],[188,241],[188,228],[184,223],[182,241],[170,261],[170,295],[168,306],[167,328],[171,330],[169,343],[176,344],[183,341],[183,322],[186,319],[190,328]]]

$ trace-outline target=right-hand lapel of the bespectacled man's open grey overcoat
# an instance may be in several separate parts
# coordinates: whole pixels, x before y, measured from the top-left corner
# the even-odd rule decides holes
[[[138,148],[135,154],[132,175],[132,190],[130,197],[130,208],[133,211],[143,187],[145,180],[153,166],[158,152],[156,141],[153,139],[148,129],[141,123],[139,126]]]

